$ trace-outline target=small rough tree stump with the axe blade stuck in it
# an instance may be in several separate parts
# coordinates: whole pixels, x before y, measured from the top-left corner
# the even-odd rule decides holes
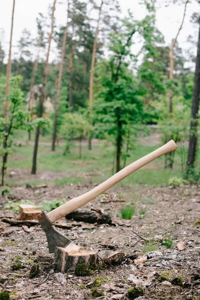
[[[67,272],[68,270],[74,270],[78,264],[86,264],[97,266],[98,256],[95,251],[85,250],[76,244],[70,243],[65,248],[56,247],[55,249],[55,263],[56,272]]]

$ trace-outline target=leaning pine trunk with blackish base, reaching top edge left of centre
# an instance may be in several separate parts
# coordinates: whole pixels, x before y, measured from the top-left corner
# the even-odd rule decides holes
[[[49,35],[49,39],[48,39],[48,50],[47,50],[46,61],[45,61],[45,65],[44,65],[43,82],[42,82],[42,88],[41,88],[41,95],[40,95],[40,99],[39,99],[38,117],[42,116],[42,110],[43,110],[43,100],[44,100],[46,79],[47,79],[47,73],[48,73],[48,57],[49,57],[50,44],[51,44],[51,39],[52,39],[52,34],[53,34],[53,27],[54,27],[55,2],[56,2],[56,0],[53,1],[53,6],[52,6],[51,31],[50,31],[50,35]],[[37,126],[36,134],[35,134],[31,174],[36,174],[36,160],[37,160],[38,141],[39,141],[39,125]]]

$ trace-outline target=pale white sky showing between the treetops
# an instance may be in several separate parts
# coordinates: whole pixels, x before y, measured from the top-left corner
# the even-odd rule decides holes
[[[7,54],[11,25],[12,0],[1,1],[3,1],[3,4],[0,9],[0,29],[4,29],[4,37],[1,39],[1,43],[4,47],[5,53]],[[144,17],[145,9],[139,4],[139,1],[140,0],[119,0],[122,16],[125,16],[127,14],[127,10],[130,9],[135,18],[141,19]],[[45,13],[48,9],[48,5],[52,5],[52,2],[53,0],[15,0],[13,46],[16,45],[16,41],[19,39],[23,28],[30,30],[33,35],[36,33],[35,18],[37,14],[39,12]],[[184,3],[179,5],[171,3],[170,5],[165,6],[165,0],[158,0],[158,2],[160,3],[160,7],[156,12],[156,25],[164,35],[165,43],[169,45],[171,39],[176,35],[180,25],[184,10]],[[181,0],[178,0],[178,3],[181,3]],[[197,41],[198,28],[190,22],[191,14],[194,11],[200,11],[200,7],[195,0],[191,0],[191,3],[187,4],[185,21],[178,36],[178,44],[184,50],[192,47],[192,50],[195,52],[195,47],[186,42],[189,34]],[[60,3],[59,0],[57,0],[55,18],[56,25],[65,24],[66,1],[62,0],[62,3]],[[51,51],[50,59],[53,59],[53,49]]]

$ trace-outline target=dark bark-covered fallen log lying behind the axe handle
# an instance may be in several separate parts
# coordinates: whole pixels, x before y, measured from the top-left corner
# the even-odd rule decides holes
[[[78,208],[65,216],[66,219],[84,221],[86,223],[111,224],[111,216],[103,209],[81,209]]]

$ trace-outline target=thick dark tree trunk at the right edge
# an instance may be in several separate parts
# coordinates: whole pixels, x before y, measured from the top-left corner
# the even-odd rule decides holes
[[[189,132],[189,146],[187,154],[187,173],[189,169],[194,167],[196,145],[197,145],[197,126],[198,126],[198,107],[199,107],[199,93],[200,93],[200,26],[198,31],[198,44],[196,55],[196,66],[194,73],[194,86],[191,106],[191,121]]]

